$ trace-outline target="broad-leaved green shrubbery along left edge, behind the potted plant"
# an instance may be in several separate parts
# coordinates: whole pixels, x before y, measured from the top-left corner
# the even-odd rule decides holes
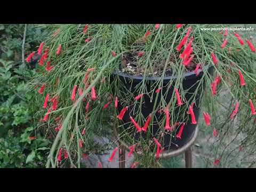
[[[50,141],[38,134],[33,138],[36,122],[27,106],[27,82],[37,66],[23,63],[22,55],[35,50],[47,34],[34,25],[0,24],[0,167],[45,164],[43,152]]]

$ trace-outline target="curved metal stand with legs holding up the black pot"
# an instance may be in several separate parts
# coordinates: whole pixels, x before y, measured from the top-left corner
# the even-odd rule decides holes
[[[185,162],[186,162],[186,168],[191,168],[192,167],[192,146],[197,138],[198,134],[198,126],[196,126],[195,134],[193,138],[183,147],[177,149],[177,150],[166,150],[162,154],[159,154],[159,159],[167,159],[171,158],[177,155],[180,155],[182,153],[185,153]],[[125,142],[123,142],[121,139],[118,137],[118,130],[115,128],[115,137],[116,140],[118,141],[119,145],[119,168],[125,168],[125,150],[129,150],[129,146],[126,145]],[[138,155],[141,155],[140,153],[137,153]]]

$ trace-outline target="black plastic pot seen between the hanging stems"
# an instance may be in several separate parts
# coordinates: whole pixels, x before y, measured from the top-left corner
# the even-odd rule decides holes
[[[210,74],[213,73],[213,67],[208,68],[208,70],[209,70]],[[186,93],[186,95],[185,95],[185,98],[187,101],[190,99],[191,95],[193,95],[193,93],[197,89],[198,83],[199,83],[200,79],[202,78],[202,76],[203,76],[202,70],[199,70],[198,76],[196,76],[196,74],[194,72],[189,72],[189,73],[184,74],[185,78],[183,80],[182,86],[183,86],[183,90],[189,89],[189,92]],[[112,77],[118,78],[118,81],[121,81],[121,83],[123,85],[119,88],[119,89],[121,89],[121,92],[127,93],[127,94],[133,93],[133,95],[135,95],[135,96],[139,94],[136,92],[135,87],[142,81],[143,77],[132,76],[129,74],[124,74],[124,73],[113,73]],[[148,92],[152,91],[150,88],[151,85],[156,83],[156,81],[158,81],[159,78],[160,77],[148,77],[147,78],[146,89]],[[173,94],[173,86],[171,86],[171,89],[167,89],[164,86],[170,82],[170,79],[173,79],[173,78],[174,78],[174,81],[173,81],[173,84],[174,84],[176,76],[164,77],[164,80],[163,80],[162,93],[164,95],[167,92],[167,96],[165,99],[166,103],[168,103],[171,99],[171,96]],[[198,94],[196,95],[196,103],[193,108],[196,120],[198,120],[199,113],[200,113],[200,108],[198,108],[196,106],[198,106],[199,98],[200,98],[199,94],[203,91],[203,89],[204,89],[204,87],[199,87]],[[154,90],[154,92],[155,92],[155,90]],[[120,97],[122,97],[122,95],[118,95],[118,97],[120,98]],[[143,104],[142,104],[142,109],[141,109],[143,117],[145,117],[145,118],[148,117],[148,115],[153,111],[155,97],[156,97],[156,94],[154,94],[153,99],[151,99],[152,102],[150,102],[149,96],[146,94],[143,95]],[[160,101],[160,98],[161,97],[158,96],[157,102]],[[122,98],[120,98],[120,99],[122,99]],[[118,103],[118,111],[119,112],[123,109],[123,107],[125,107],[125,106],[123,106],[122,103]],[[179,110],[179,109],[177,109],[177,110]],[[123,120],[122,120],[124,123],[124,129],[127,129],[129,126],[131,126],[130,116],[134,117],[133,111],[137,111],[137,109],[135,109],[135,110],[127,109],[127,111],[123,117]],[[178,111],[175,111],[175,114],[178,114]],[[156,119],[158,119],[158,121],[160,121],[164,117],[164,113],[162,113],[162,114],[156,113],[155,117],[156,118],[154,118],[153,135],[156,135],[157,133],[159,133],[159,125],[156,123]],[[189,116],[189,118],[190,118],[190,116]],[[182,122],[181,118],[178,118],[178,119],[180,122]],[[173,136],[171,138],[171,134],[164,135],[163,139],[164,139],[164,148],[165,149],[180,148],[180,147],[186,145],[186,143],[191,138],[193,138],[193,135],[195,133],[195,127],[197,125],[190,124],[190,122],[191,122],[191,119],[189,119],[188,124],[185,125],[183,132],[182,132],[181,139],[175,138]],[[179,131],[179,128],[177,131]],[[135,129],[134,129],[133,133],[134,133],[135,140],[139,140],[139,138],[141,136],[146,137],[146,134],[147,134],[145,132],[136,133]]]

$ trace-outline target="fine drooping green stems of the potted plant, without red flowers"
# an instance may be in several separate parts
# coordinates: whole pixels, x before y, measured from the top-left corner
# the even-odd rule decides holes
[[[130,110],[135,110],[134,119],[139,125],[143,125],[146,119],[141,114],[141,107],[143,98],[134,101],[134,95],[130,92],[121,92],[122,83],[116,79],[111,78],[113,71],[123,71],[135,76],[142,76],[141,83],[137,86],[137,93],[143,93],[153,97],[157,94],[160,102],[154,103],[154,110],[151,111],[153,116],[159,109],[169,107],[170,124],[173,125],[177,118],[182,118],[183,122],[189,123],[189,115],[187,114],[188,107],[195,102],[196,95],[202,98],[201,101],[206,107],[207,113],[211,115],[212,128],[214,125],[228,124],[234,122],[229,116],[234,107],[227,108],[226,114],[222,114],[221,119],[217,115],[218,110],[218,94],[220,90],[226,90],[227,94],[231,96],[232,103],[239,101],[239,110],[237,113],[237,121],[239,124],[239,131],[244,131],[249,134],[246,142],[252,141],[254,132],[252,119],[250,115],[249,99],[254,99],[254,89],[256,87],[255,78],[255,52],[252,52],[246,45],[241,45],[233,33],[228,33],[228,43],[226,47],[221,48],[223,42],[223,35],[216,31],[204,31],[202,27],[225,27],[223,25],[191,25],[192,30],[190,36],[193,37],[193,54],[194,59],[189,66],[182,65],[182,60],[175,47],[179,44],[181,39],[185,36],[190,25],[183,25],[181,28],[175,28],[175,25],[161,25],[155,29],[155,25],[89,25],[89,28],[83,33],[84,25],[48,25],[41,26],[47,29],[58,31],[53,33],[45,42],[45,47],[49,47],[48,58],[50,58],[51,65],[54,68],[50,71],[38,73],[33,81],[31,87],[41,86],[46,84],[43,94],[38,94],[37,90],[33,89],[33,103],[31,105],[38,111],[35,114],[36,119],[42,119],[47,112],[43,109],[43,102],[46,93],[50,97],[58,95],[58,109],[52,110],[49,113],[47,121],[40,125],[40,129],[47,134],[53,135],[54,142],[50,150],[50,158],[47,167],[52,167],[58,164],[58,151],[60,148],[65,148],[68,151],[68,161],[71,165],[80,166],[81,154],[88,152],[88,149],[93,145],[93,135],[100,134],[105,130],[104,121],[115,121],[119,127],[119,137],[123,138],[129,145],[134,144],[134,138],[129,133],[134,129],[131,124],[130,128],[124,130],[122,122],[117,121],[115,110],[103,110],[102,107],[111,101],[110,106],[114,104],[114,98],[117,96],[119,102],[123,106],[129,106]],[[150,34],[145,37],[147,31]],[[244,39],[245,35],[242,36]],[[248,38],[248,37],[247,37]],[[56,51],[61,45],[60,54]],[[143,52],[141,57],[139,52]],[[211,53],[214,52],[218,59],[218,64],[214,65]],[[131,58],[130,65],[124,63],[124,58]],[[198,87],[191,96],[190,100],[185,100],[184,96],[189,90],[182,89],[182,81],[184,74],[193,71],[197,63],[201,63],[203,75],[195,86]],[[230,65],[235,63],[235,65]],[[129,67],[130,66],[130,67]],[[214,75],[209,74],[209,67],[214,68]],[[87,73],[88,69],[94,68],[93,71]],[[42,67],[44,70],[44,67]],[[241,86],[239,83],[238,70],[241,70],[246,85]],[[87,84],[84,83],[85,75],[88,75]],[[177,87],[182,98],[183,105],[177,106],[177,99],[173,92],[169,103],[165,102],[166,95],[162,92],[155,93],[159,87],[163,86],[163,79],[167,75],[173,75],[167,87]],[[146,89],[147,77],[158,77],[158,80],[151,86],[151,92]],[[217,94],[212,95],[211,83],[216,76],[220,76],[221,82],[217,87]],[[201,85],[205,85],[202,91]],[[82,94],[76,94],[75,101],[70,100],[70,95],[74,85],[78,89],[83,89]],[[97,100],[91,99],[91,89],[95,86],[97,93]],[[113,97],[109,100],[109,95]],[[84,101],[85,99],[85,101]],[[86,103],[90,102],[89,112],[86,113]],[[202,103],[199,103],[200,106]],[[174,111],[179,109],[178,116]],[[112,113],[113,111],[113,113]],[[111,113],[110,113],[111,112]],[[114,120],[110,114],[114,114]],[[55,122],[55,118],[61,116],[60,122]],[[153,120],[151,122],[153,122]],[[166,133],[164,129],[165,118],[158,122],[161,129],[157,135],[158,139],[161,134],[172,134],[175,137],[176,131]],[[59,125],[61,129],[55,132],[55,128]],[[152,126],[152,124],[149,124]],[[140,150],[143,155],[139,158],[141,166],[149,167],[155,161],[154,153],[151,153],[149,147],[154,147],[152,137],[148,129],[146,138],[140,138]],[[81,134],[85,129],[86,134]],[[220,131],[220,130],[218,130]],[[253,132],[253,134],[252,134]],[[220,133],[221,135],[221,133]],[[223,135],[225,137],[225,134]],[[79,145],[82,141],[83,146]],[[138,149],[139,150],[139,149]]]

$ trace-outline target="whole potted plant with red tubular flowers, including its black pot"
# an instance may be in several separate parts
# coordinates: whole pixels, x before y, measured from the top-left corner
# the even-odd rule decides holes
[[[201,113],[211,127],[221,87],[236,100],[228,121],[237,113],[252,119],[254,43],[236,32],[202,30],[219,26],[46,26],[54,33],[38,47],[42,70],[31,82],[41,130],[53,138],[46,166],[68,159],[79,167],[108,115],[130,153],[140,151],[140,165],[150,167],[163,150],[193,137]],[[202,99],[207,111],[200,111]]]

